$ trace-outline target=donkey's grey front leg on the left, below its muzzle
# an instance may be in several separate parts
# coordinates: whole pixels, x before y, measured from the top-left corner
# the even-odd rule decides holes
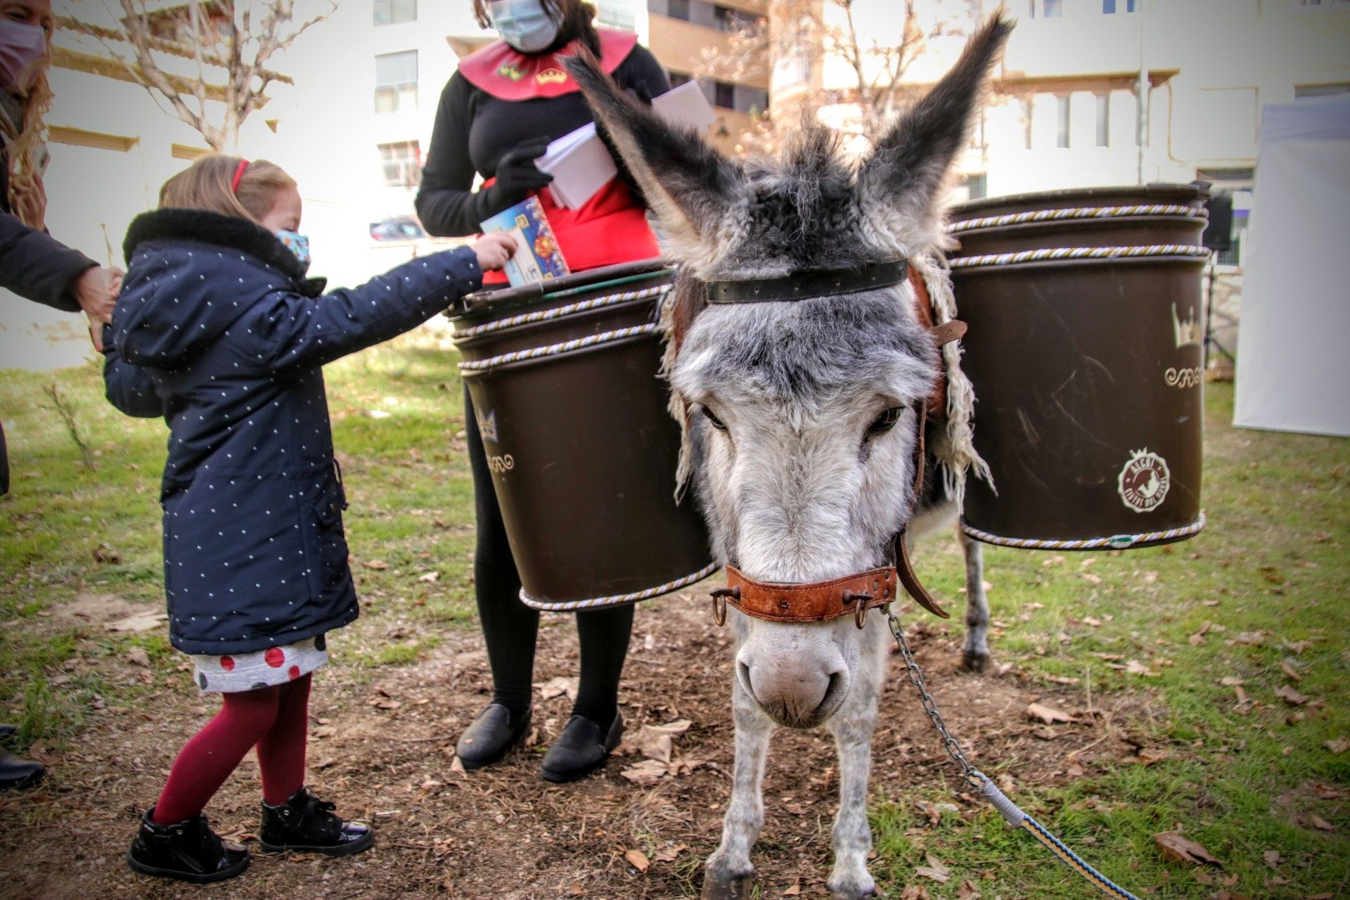
[[[738,680],[732,683],[732,715],[736,721],[732,801],[722,819],[722,842],[703,864],[703,900],[749,899],[755,876],[751,847],[764,827],[764,757],[774,723]]]

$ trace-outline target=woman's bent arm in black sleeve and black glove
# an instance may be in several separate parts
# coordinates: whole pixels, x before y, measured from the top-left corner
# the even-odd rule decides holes
[[[428,233],[440,237],[477,235],[485,219],[514,206],[554,179],[535,166],[535,159],[548,148],[548,139],[541,138],[508,151],[490,188],[470,190],[474,163],[468,157],[468,127],[474,90],[477,88],[456,72],[441,92],[417,189],[417,217]]]

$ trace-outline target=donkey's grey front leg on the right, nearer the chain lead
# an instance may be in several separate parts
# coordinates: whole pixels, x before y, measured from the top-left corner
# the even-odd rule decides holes
[[[883,625],[871,629],[884,630]],[[869,634],[875,644],[884,637]],[[859,667],[850,696],[829,722],[840,757],[840,811],[834,816],[834,869],[826,887],[838,900],[859,900],[876,893],[876,881],[867,870],[872,851],[872,828],[867,823],[867,783],[872,773],[872,733],[884,661],[875,650],[869,665]],[[884,657],[883,657],[884,658]]]

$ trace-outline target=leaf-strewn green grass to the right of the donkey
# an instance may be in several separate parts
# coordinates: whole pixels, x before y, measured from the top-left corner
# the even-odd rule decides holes
[[[1091,684],[1099,707],[1139,695],[1152,715],[1123,727],[1165,756],[1152,765],[1099,760],[1062,787],[1014,799],[1135,893],[1346,896],[1350,808],[1316,785],[1350,795],[1350,752],[1327,746],[1350,738],[1350,444],[1235,430],[1231,386],[1210,386],[1207,402],[1200,537],[1108,553],[986,548],[994,617],[1006,623],[995,654],[1033,683]],[[934,587],[953,596],[954,561],[937,575]],[[1285,687],[1308,700],[1285,700],[1276,694]],[[961,861],[952,881],[927,882],[933,897],[957,896],[967,878],[990,896],[1013,873],[1025,896],[1099,896],[992,812],[915,835],[915,803],[942,799],[934,787],[875,803],[878,847],[898,882],[932,853]],[[1223,869],[1166,862],[1153,835],[1170,830]],[[1264,858],[1272,850],[1274,865]]]

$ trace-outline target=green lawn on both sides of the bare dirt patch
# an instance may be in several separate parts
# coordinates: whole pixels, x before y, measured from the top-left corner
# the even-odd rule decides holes
[[[331,366],[327,378],[364,613],[338,664],[360,677],[416,663],[440,629],[471,618],[462,389],[451,354],[408,341]],[[53,407],[53,382],[66,413]],[[1200,537],[1125,553],[986,551],[998,660],[1030,684],[1077,679],[1081,707],[1091,684],[1092,706],[1134,710],[1100,727],[1123,729],[1162,757],[1092,758],[1081,776],[1022,787],[1014,799],[1145,896],[1345,896],[1350,752],[1327,743],[1350,738],[1350,443],[1239,432],[1227,424],[1231,387],[1210,386],[1207,399],[1210,525]],[[93,366],[0,372],[0,410],[14,470],[0,499],[0,719],[20,726],[22,743],[69,746],[100,708],[192,692],[173,677],[182,658],[158,630],[126,637],[65,614],[80,604],[161,607],[166,432],[108,406]],[[954,544],[925,549],[929,586],[956,598]],[[86,664],[135,646],[150,663],[140,680],[112,683]],[[1308,700],[1282,699],[1276,691],[1285,687]],[[980,764],[999,770],[996,758]],[[944,814],[925,827],[915,803],[946,801],[953,787],[938,775],[903,796],[873,797],[872,872],[894,895],[921,881],[930,897],[957,897],[968,880],[984,897],[1096,896],[992,812]],[[1312,815],[1332,830],[1314,827]],[[1223,869],[1166,862],[1153,834],[1176,828]],[[1280,854],[1273,865],[1268,851]],[[926,854],[952,866],[949,881],[915,877]]]

